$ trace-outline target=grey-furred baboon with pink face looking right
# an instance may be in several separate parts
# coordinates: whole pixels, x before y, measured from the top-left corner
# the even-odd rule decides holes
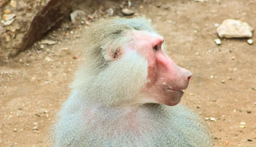
[[[83,33],[52,147],[213,146],[201,118],[178,104],[192,73],[164,53],[147,17],[101,19]]]

